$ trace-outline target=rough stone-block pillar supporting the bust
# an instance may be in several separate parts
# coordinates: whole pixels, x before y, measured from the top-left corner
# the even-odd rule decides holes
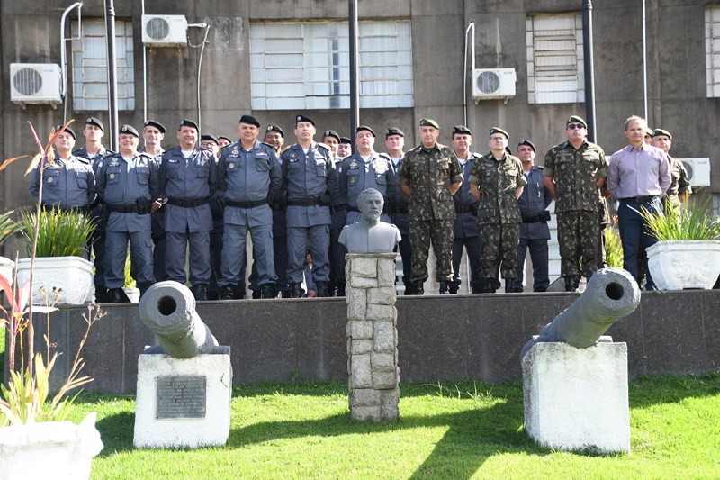
[[[394,253],[347,254],[347,373],[350,416],[400,417]]]

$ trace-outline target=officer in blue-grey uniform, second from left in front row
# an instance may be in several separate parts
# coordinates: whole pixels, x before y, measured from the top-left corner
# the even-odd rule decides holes
[[[107,205],[105,242],[105,285],[109,302],[129,302],[122,290],[125,283],[125,259],[130,240],[130,265],[140,295],[155,283],[152,265],[152,221],[160,195],[157,163],[146,153],[138,152],[139,133],[122,125],[120,153],[103,161],[97,176],[98,199]]]

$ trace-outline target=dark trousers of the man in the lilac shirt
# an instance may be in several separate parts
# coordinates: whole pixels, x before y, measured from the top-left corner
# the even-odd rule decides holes
[[[649,211],[659,212],[662,204],[657,198],[653,202],[643,203],[620,200],[620,206],[617,208],[617,226],[620,229],[620,240],[623,243],[623,268],[630,272],[639,285],[638,266],[642,262],[647,273],[646,287],[652,289],[655,283],[650,275],[650,270],[647,269],[647,254],[644,253],[644,250],[656,243],[657,239],[650,234],[647,224],[640,216],[643,207]]]

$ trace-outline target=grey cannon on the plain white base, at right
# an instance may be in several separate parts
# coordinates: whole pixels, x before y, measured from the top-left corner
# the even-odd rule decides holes
[[[602,268],[590,278],[578,300],[525,344],[520,357],[525,357],[538,342],[562,341],[577,349],[587,349],[598,341],[612,341],[602,334],[613,323],[635,312],[639,303],[640,288],[633,276],[622,268]]]

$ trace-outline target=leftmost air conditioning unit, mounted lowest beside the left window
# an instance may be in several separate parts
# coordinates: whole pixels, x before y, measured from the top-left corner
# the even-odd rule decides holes
[[[55,63],[11,63],[10,101],[20,104],[62,104],[62,73]]]

